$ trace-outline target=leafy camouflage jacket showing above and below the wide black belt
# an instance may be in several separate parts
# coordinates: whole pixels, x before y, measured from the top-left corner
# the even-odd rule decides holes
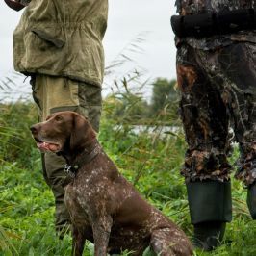
[[[254,8],[256,0],[176,0],[177,13],[191,15],[199,13],[218,13],[223,10]],[[176,38],[176,45],[189,43],[193,48],[210,50],[229,45],[234,41],[249,41],[256,43],[256,31],[240,31],[236,34],[215,35],[209,38]]]

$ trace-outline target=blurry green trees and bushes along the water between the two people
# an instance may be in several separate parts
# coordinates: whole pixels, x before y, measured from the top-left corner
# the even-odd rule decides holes
[[[118,92],[106,98],[107,115],[133,124],[150,124],[152,121],[171,125],[178,119],[179,92],[176,80],[157,78],[152,83],[150,100],[142,93],[129,90]]]

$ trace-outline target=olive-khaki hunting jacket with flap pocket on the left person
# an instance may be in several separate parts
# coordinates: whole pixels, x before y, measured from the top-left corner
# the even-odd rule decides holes
[[[20,0],[28,4],[13,32],[17,71],[64,76],[100,86],[108,0]]]

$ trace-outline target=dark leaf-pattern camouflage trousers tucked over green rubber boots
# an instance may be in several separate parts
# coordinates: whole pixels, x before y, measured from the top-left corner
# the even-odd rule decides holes
[[[188,142],[181,173],[187,182],[229,180],[231,139],[240,148],[236,178],[246,186],[255,182],[255,67],[253,43],[234,42],[209,51],[187,44],[178,47],[180,115]]]

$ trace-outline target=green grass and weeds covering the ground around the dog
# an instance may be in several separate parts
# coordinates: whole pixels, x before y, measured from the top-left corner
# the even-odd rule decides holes
[[[166,100],[176,102],[173,91],[171,96],[169,90],[165,93]],[[141,194],[191,237],[184,179],[179,174],[186,143],[175,115],[177,104],[170,108],[165,101],[154,115],[153,106],[156,100],[146,103],[129,90],[108,97],[99,141]],[[152,115],[145,115],[146,110]],[[63,241],[55,236],[53,196],[43,181],[40,155],[28,129],[37,120],[37,109],[29,101],[0,105],[0,255],[71,253],[70,236]],[[144,125],[139,133],[131,123],[148,124],[150,129]],[[237,156],[235,150],[233,163]],[[242,185],[235,180],[232,184],[234,218],[227,227],[226,243],[212,253],[198,250],[194,255],[256,255],[256,221],[249,217]],[[92,255],[91,250],[88,243],[84,255]]]

